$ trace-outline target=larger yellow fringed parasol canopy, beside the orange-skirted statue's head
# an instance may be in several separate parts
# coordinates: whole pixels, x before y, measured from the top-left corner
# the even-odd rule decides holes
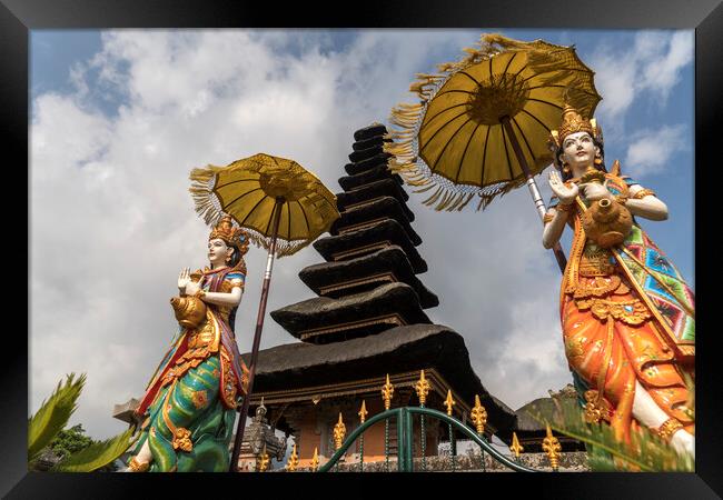
[[[594,72],[573,47],[483,34],[468,57],[439,64],[439,74],[417,74],[410,86],[420,102],[399,104],[385,150],[390,168],[408,183],[432,191],[426,204],[462,210],[479,196],[477,210],[525,183],[552,162],[547,140],[565,104],[592,117],[602,99]],[[507,126],[505,126],[507,121]],[[515,137],[511,138],[511,133]]]

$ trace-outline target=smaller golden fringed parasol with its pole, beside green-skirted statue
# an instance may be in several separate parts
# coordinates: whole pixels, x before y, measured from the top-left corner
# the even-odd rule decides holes
[[[295,161],[259,153],[226,167],[194,169],[190,192],[196,211],[206,223],[231,216],[249,239],[268,250],[261,288],[248,387],[240,410],[230,471],[236,471],[254,374],[258,360],[264,316],[274,257],[290,256],[328,231],[338,219],[336,197],[311,172]]]

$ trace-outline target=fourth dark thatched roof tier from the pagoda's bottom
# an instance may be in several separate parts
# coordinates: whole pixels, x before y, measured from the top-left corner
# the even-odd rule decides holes
[[[426,272],[427,262],[414,248],[414,243],[409,240],[404,227],[394,219],[385,219],[357,231],[320,238],[314,242],[314,248],[327,261],[333,261],[360,257],[390,244],[402,247],[416,274]]]

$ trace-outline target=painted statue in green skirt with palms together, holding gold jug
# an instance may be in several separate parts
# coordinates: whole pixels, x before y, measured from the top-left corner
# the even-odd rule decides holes
[[[228,471],[248,383],[234,334],[247,250],[248,236],[227,216],[208,240],[210,267],[181,270],[171,299],[180,329],[136,410],[142,423],[129,471]]]

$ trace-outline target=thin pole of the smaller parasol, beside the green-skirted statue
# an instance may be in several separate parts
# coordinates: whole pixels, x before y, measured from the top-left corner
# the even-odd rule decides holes
[[[264,284],[261,287],[261,301],[258,304],[258,317],[256,318],[256,332],[254,333],[254,347],[251,348],[251,361],[248,369],[248,387],[246,396],[241,404],[241,412],[238,417],[238,426],[236,427],[236,440],[234,441],[234,452],[231,453],[231,462],[229,464],[229,472],[237,472],[238,456],[241,452],[241,441],[244,440],[244,430],[246,428],[246,417],[248,416],[248,407],[251,400],[251,390],[254,388],[254,374],[256,373],[256,361],[258,360],[259,344],[261,343],[261,330],[264,330],[264,317],[266,316],[266,301],[268,299],[268,290],[271,284],[271,269],[274,268],[274,254],[276,253],[276,237],[279,230],[279,220],[281,219],[281,207],[286,200],[277,198],[274,206],[273,227],[271,227],[271,244],[269,247],[268,257],[266,258],[266,273],[264,274]]]

